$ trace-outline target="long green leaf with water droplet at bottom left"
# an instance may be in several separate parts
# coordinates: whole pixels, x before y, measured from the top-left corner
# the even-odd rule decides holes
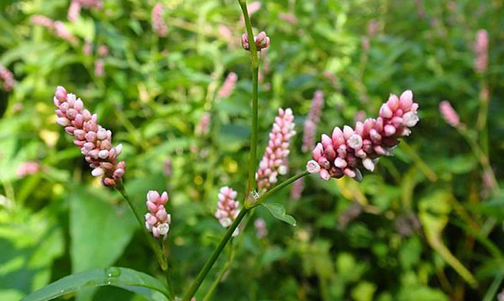
[[[156,278],[133,269],[110,267],[68,275],[27,295],[23,300],[51,300],[86,287],[111,285],[140,293],[148,300],[168,300],[165,286]]]

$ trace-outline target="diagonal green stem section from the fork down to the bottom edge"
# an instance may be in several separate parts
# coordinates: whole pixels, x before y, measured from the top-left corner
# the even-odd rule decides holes
[[[192,282],[190,288],[186,292],[186,295],[184,295],[183,297],[183,301],[189,301],[192,298],[192,296],[195,295],[199,286],[205,279],[206,274],[208,274],[208,271],[212,269],[213,264],[215,264],[215,261],[217,260],[217,258],[219,258],[220,253],[222,253],[224,246],[226,246],[228,241],[231,239],[233,232],[235,232],[235,229],[240,224],[243,217],[245,217],[245,215],[249,213],[249,210],[250,210],[249,208],[243,208],[242,211],[238,213],[235,221],[233,222],[233,224],[231,224],[231,226],[229,226],[228,231],[226,231],[226,234],[224,234],[224,237],[222,237],[222,240],[219,242],[219,245],[217,245],[217,248],[215,248],[212,255],[210,255],[210,258],[206,260],[206,263],[201,269],[201,271],[199,271],[199,274],[197,275],[195,281]]]

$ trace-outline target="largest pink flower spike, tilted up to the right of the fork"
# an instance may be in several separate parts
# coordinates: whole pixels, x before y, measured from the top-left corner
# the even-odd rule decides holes
[[[398,138],[408,136],[409,128],[418,122],[418,104],[413,93],[406,90],[400,97],[390,95],[383,104],[377,119],[357,122],[355,129],[336,126],[332,137],[322,135],[307,164],[309,173],[318,173],[322,179],[339,179],[343,175],[360,181],[359,167],[374,171],[378,157],[389,155],[391,148],[399,144]]]

